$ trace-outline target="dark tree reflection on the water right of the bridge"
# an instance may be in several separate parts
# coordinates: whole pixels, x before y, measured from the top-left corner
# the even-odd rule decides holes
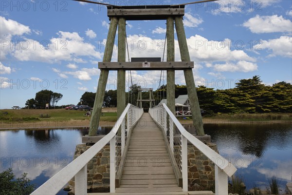
[[[291,145],[291,124],[205,124],[205,133],[226,147],[237,144],[243,155],[262,157],[267,147],[279,150]],[[233,140],[233,141],[230,141]]]

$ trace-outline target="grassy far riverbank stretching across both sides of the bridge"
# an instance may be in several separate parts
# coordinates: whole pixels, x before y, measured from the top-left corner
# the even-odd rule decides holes
[[[89,127],[91,117],[87,111],[65,109],[21,109],[0,110],[0,129],[26,129],[26,128],[59,128],[59,127]],[[116,108],[103,108],[100,126],[113,126],[117,120]],[[48,114],[50,117],[40,117],[39,114]],[[182,124],[192,124],[191,117],[184,120],[178,117]],[[292,114],[220,114],[212,117],[203,117],[204,123],[226,122],[292,122]]]

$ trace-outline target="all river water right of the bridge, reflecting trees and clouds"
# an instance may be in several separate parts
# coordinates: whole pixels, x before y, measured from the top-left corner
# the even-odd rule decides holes
[[[194,131],[192,125],[185,128]],[[267,179],[276,176],[285,191],[292,179],[290,123],[204,124],[204,129],[217,144],[220,155],[237,167],[237,175],[244,177],[248,189],[255,184],[266,189]]]

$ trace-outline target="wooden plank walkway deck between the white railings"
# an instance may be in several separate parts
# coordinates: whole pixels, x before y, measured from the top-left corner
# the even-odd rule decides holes
[[[148,113],[133,129],[120,187],[116,193],[182,192],[164,137]]]

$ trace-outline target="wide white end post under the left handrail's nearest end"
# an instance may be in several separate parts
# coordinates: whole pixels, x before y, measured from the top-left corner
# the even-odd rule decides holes
[[[87,164],[75,175],[75,195],[87,194]]]

